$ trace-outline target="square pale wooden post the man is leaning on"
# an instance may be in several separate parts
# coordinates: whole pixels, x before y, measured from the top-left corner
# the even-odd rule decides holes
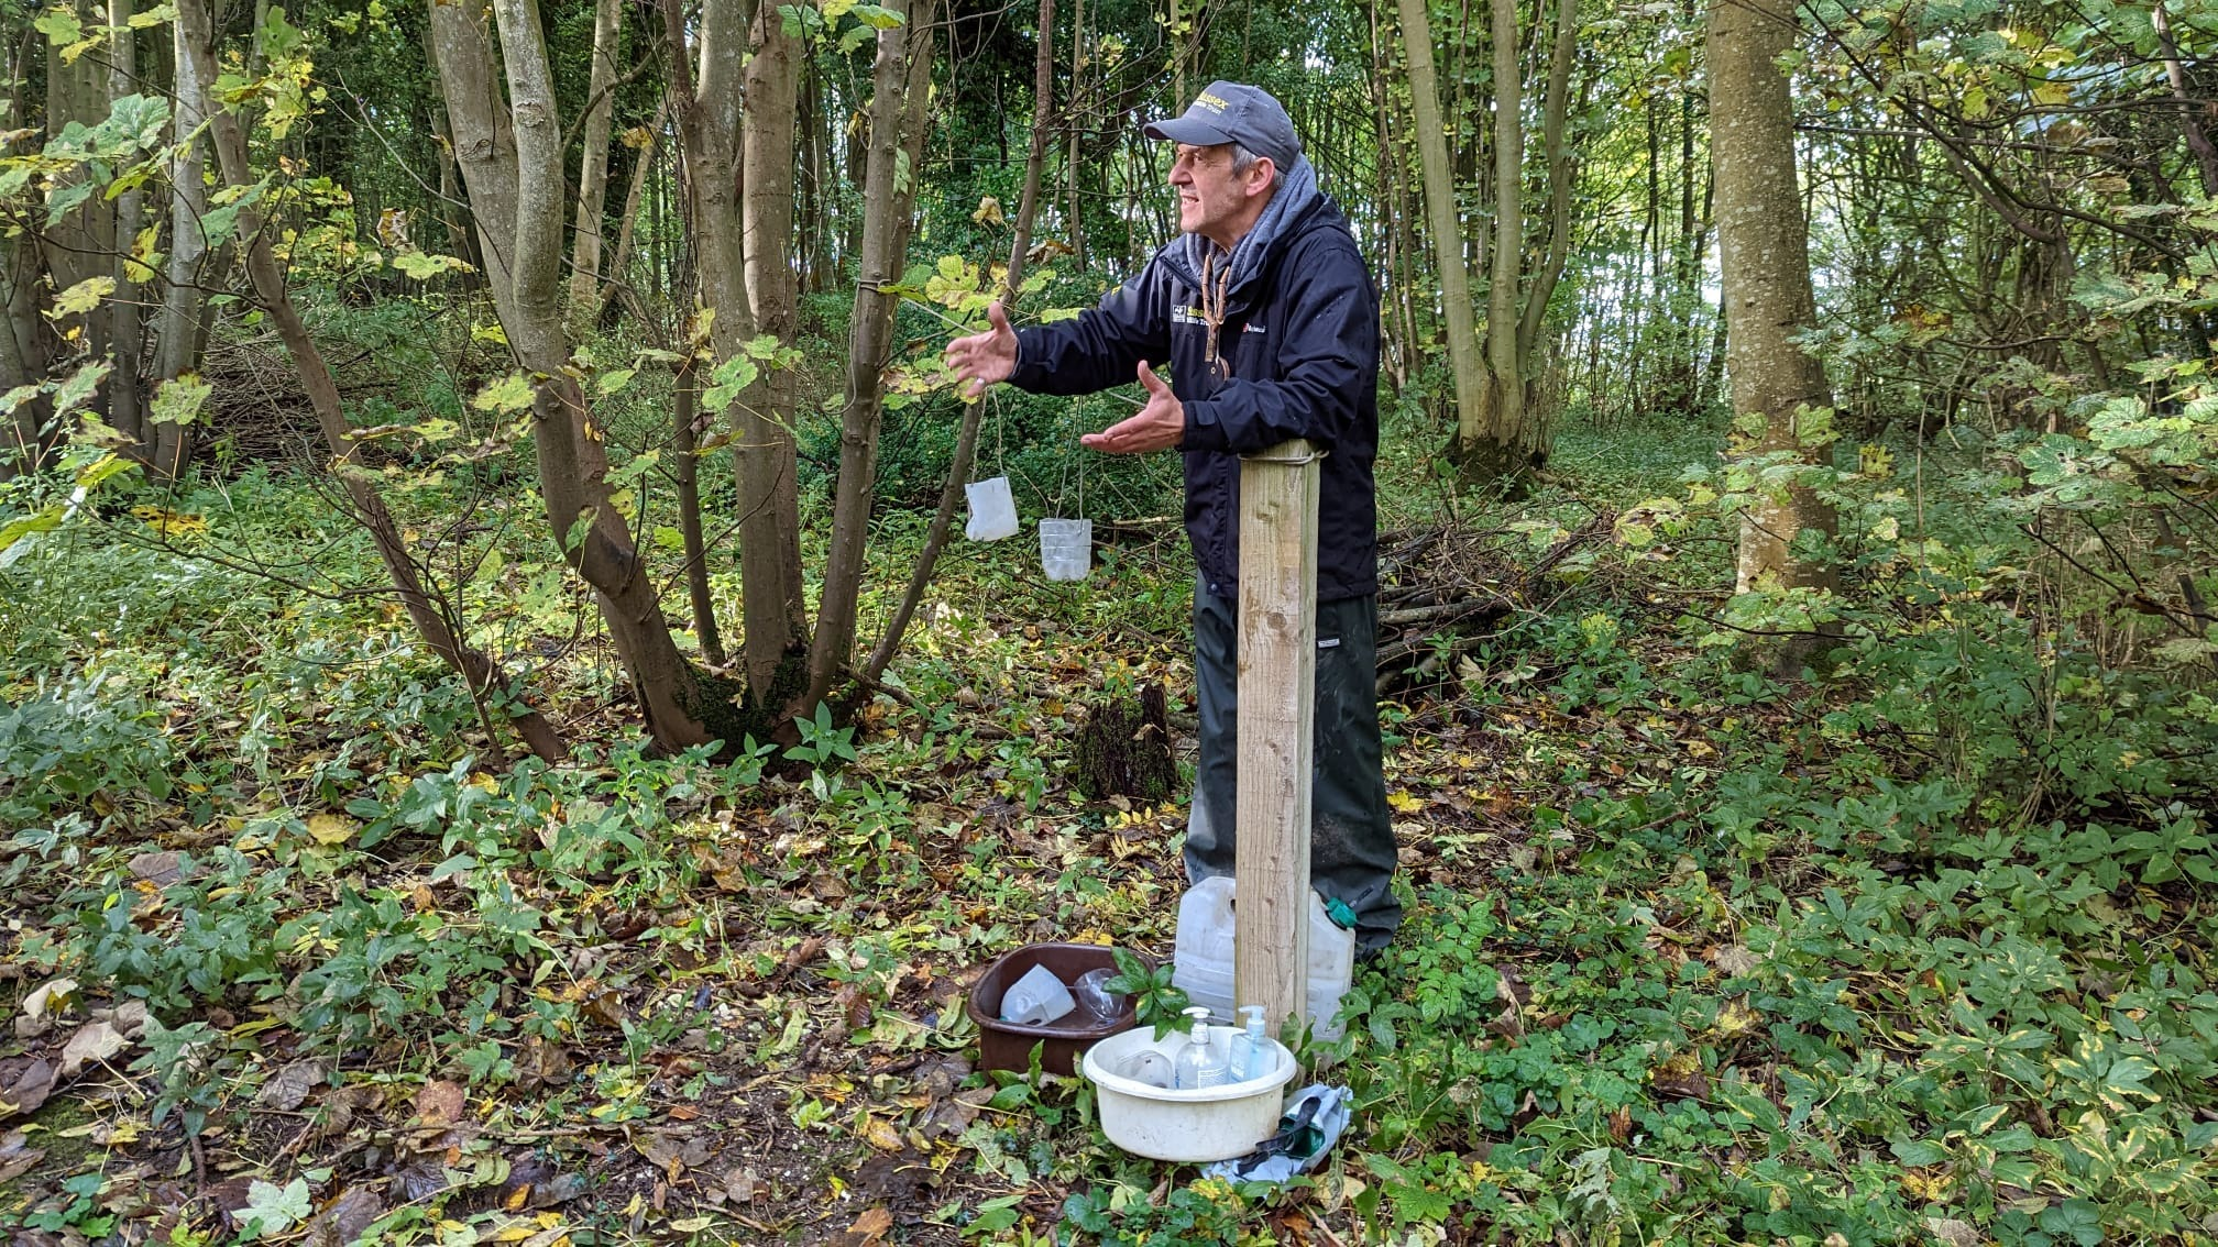
[[[1240,812],[1233,1005],[1271,1032],[1309,1005],[1309,785],[1317,690],[1317,450],[1240,462]]]

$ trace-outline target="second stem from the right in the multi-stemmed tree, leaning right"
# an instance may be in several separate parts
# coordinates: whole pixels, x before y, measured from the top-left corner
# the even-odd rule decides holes
[[[916,178],[896,175],[903,164],[896,153],[916,169],[925,146],[934,0],[898,0],[889,9],[905,20],[878,31],[878,62],[872,71],[863,271],[847,331],[847,408],[841,415],[832,550],[816,608],[816,643],[810,648],[810,688],[796,710],[832,697],[854,648],[869,504],[878,475],[878,424],[885,415],[885,364],[894,353],[894,311],[901,306],[901,295],[883,288],[901,282],[916,213]]]

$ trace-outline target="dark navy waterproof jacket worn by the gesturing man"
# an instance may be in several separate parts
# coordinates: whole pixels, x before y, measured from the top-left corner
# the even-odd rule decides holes
[[[1346,217],[1317,197],[1269,242],[1275,255],[1227,291],[1218,348],[1229,379],[1207,366],[1200,291],[1169,255],[1182,244],[1158,251],[1098,308],[1018,331],[1009,384],[1082,395],[1133,382],[1140,359],[1169,362],[1187,408],[1187,539],[1215,595],[1233,595],[1240,577],[1240,455],[1309,437],[1326,448],[1317,599],[1377,592],[1377,291]]]

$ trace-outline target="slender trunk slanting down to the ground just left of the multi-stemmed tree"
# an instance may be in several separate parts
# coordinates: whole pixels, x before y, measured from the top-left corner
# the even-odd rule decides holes
[[[193,84],[197,91],[191,109],[211,120],[208,133],[215,142],[224,182],[244,189],[253,173],[246,164],[246,133],[240,126],[240,115],[231,109],[215,113],[208,109],[208,87],[215,82],[208,0],[177,0],[175,22],[177,82]],[[284,271],[277,266],[277,255],[271,251],[268,233],[257,211],[246,209],[240,213],[240,237],[246,246],[246,275],[253,282],[255,302],[271,315],[286,353],[293,357],[302,388],[308,393],[308,406],[315,410],[317,428],[324,435],[324,446],[330,450],[333,477],[346,490],[355,508],[355,519],[377,546],[377,557],[393,579],[408,621],[415,624],[424,643],[468,681],[472,701],[484,708],[488,697],[506,697],[508,677],[492,659],[459,637],[450,612],[424,586],[417,564],[408,555],[408,541],[373,484],[375,477],[355,466],[359,446],[348,437],[346,410],[339,404],[339,384],[330,373],[330,364],[324,362],[324,353],[315,346],[315,337],[308,335],[308,326],[299,320],[299,308],[284,284]],[[508,717],[535,754],[546,761],[561,761],[566,754],[563,739],[546,717],[521,703],[501,706],[501,714]],[[499,748],[499,741],[492,741],[492,746]]]

